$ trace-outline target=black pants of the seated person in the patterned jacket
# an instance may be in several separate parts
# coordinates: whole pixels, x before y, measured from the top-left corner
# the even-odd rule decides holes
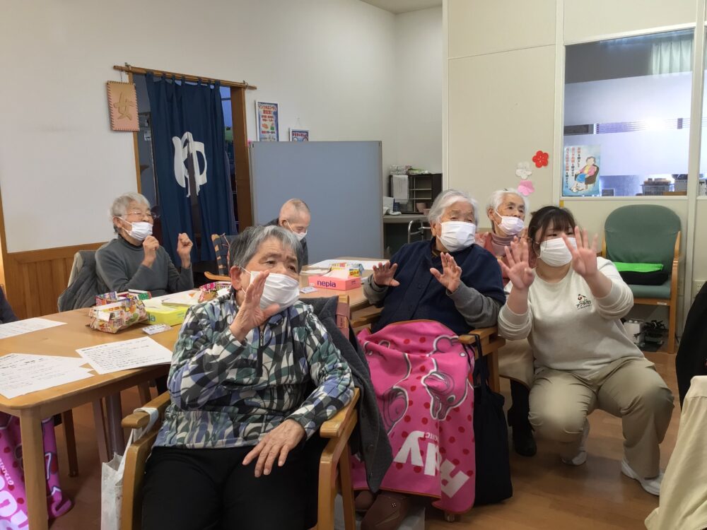
[[[269,475],[259,478],[255,478],[255,461],[243,466],[251,447],[155,447],[145,470],[142,527],[303,530],[313,526],[317,481],[312,472],[322,447],[314,437],[293,449],[284,466],[275,465]]]

